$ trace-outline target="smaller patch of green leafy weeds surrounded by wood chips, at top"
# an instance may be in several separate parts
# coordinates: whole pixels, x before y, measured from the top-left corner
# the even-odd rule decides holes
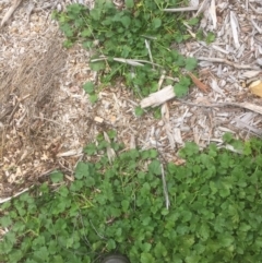
[[[123,9],[117,9],[111,1],[97,0],[92,10],[71,4],[66,12],[53,13],[53,17],[67,37],[66,47],[81,40],[93,50],[91,68],[103,71],[103,82],[121,75],[136,94],[147,96],[157,91],[164,70],[167,75],[181,77],[182,69],[196,68],[194,58],[184,58],[171,48],[174,43],[190,38],[186,16],[163,11],[174,7],[178,1],[127,0]],[[198,23],[198,19],[191,19],[188,26]],[[181,81],[175,88],[179,89],[178,96],[184,95],[190,85],[190,80]]]

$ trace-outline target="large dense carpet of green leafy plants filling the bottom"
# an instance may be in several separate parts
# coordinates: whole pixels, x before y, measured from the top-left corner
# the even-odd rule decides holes
[[[165,165],[167,210],[157,152],[114,142],[110,164],[99,136],[84,148],[99,160],[80,162],[73,182],[55,171],[51,186],[0,206],[0,262],[97,262],[111,251],[141,263],[262,262],[262,142],[224,139],[242,154],[187,143],[187,163]]]

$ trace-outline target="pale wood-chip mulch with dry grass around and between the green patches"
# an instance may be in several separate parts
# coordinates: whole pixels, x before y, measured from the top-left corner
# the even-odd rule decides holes
[[[261,104],[247,88],[262,72],[260,2],[199,3],[205,10],[201,28],[214,32],[215,43],[194,39],[171,48],[199,59],[199,80],[211,89],[204,94],[194,86],[183,101],[163,104],[160,120],[150,112],[136,118],[134,108],[140,101],[121,82],[100,91],[98,103],[90,104],[82,86],[87,81],[97,83],[97,74],[88,68],[91,53],[78,44],[62,49],[63,36],[51,20],[53,9],[62,10],[72,2],[93,7],[88,0],[22,1],[1,28],[1,202],[45,181],[53,169],[72,179],[76,163],[84,156],[83,146],[108,129],[117,130],[127,148],[156,147],[166,162],[177,162],[177,151],[187,141],[204,147],[210,142],[221,144],[226,131],[242,139],[261,136],[260,113],[230,105],[205,107]],[[9,8],[9,1],[0,3],[1,17]]]

